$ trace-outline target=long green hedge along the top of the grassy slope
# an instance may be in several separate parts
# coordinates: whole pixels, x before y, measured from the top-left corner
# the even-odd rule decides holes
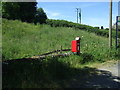
[[[72,27],[72,28],[76,28],[76,29],[80,29],[80,30],[84,30],[84,31],[88,31],[88,32],[93,32],[100,36],[105,36],[105,37],[109,36],[109,30],[105,30],[105,29],[101,30],[96,27],[73,23],[73,22],[69,22],[66,20],[47,19],[46,24],[50,25],[51,27]],[[119,34],[118,36],[120,38],[120,32],[118,34]],[[113,36],[113,38],[115,38],[115,30],[113,31],[112,36]]]

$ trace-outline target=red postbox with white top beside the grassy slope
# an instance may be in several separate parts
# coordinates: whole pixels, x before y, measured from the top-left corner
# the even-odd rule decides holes
[[[80,38],[76,37],[76,40],[73,40],[71,42],[71,51],[72,52],[80,52]]]

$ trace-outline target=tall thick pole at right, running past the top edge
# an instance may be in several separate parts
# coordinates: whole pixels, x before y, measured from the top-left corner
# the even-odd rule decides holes
[[[109,13],[109,48],[112,48],[112,0],[110,0],[110,13]]]

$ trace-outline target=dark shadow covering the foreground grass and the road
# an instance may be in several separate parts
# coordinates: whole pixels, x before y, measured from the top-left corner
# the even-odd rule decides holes
[[[72,68],[58,57],[3,62],[2,69],[3,88],[120,88],[109,71]]]

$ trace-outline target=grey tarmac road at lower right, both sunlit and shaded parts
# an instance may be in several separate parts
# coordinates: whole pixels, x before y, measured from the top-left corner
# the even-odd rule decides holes
[[[86,87],[120,88],[120,62],[104,65],[97,69],[99,75],[93,75]]]

